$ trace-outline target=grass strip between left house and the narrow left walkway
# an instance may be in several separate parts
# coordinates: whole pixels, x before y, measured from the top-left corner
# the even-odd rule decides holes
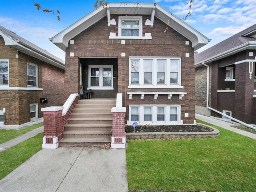
[[[0,144],[6,142],[6,141],[9,141],[13,138],[16,138],[22,134],[25,134],[27,132],[30,132],[36,128],[39,128],[39,127],[42,127],[44,125],[44,123],[39,123],[39,124],[36,124],[36,125],[32,125],[32,126],[28,126],[26,128],[23,128],[23,129],[20,129],[20,130],[14,130],[14,129],[10,129],[10,130],[7,130],[7,129],[0,129]]]

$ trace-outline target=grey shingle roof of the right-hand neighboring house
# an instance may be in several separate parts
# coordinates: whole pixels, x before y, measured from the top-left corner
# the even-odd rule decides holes
[[[256,24],[195,55],[195,66],[236,54],[242,50],[256,49]]]

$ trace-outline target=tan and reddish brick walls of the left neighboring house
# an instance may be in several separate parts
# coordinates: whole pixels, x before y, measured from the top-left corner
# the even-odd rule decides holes
[[[6,108],[5,125],[20,125],[30,122],[30,104],[38,103],[38,118],[43,117],[41,108],[57,104],[63,105],[63,92],[61,90],[63,90],[64,84],[64,70],[18,52],[10,46],[5,46],[1,36],[0,58],[9,59],[10,87],[27,87],[27,63],[30,62],[38,66],[38,88],[43,88],[43,91],[0,90],[0,108]],[[43,77],[43,70],[47,74],[45,77]],[[43,96],[49,98],[48,104],[40,104],[40,98]]]

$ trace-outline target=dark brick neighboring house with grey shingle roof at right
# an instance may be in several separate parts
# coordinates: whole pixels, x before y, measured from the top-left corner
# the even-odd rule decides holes
[[[256,124],[255,50],[256,24],[195,55],[196,113]]]

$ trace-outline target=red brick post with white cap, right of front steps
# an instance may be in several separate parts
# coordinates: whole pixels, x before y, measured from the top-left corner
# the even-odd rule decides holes
[[[126,134],[124,131],[124,118],[126,108],[122,107],[122,94],[118,93],[116,97],[116,107],[112,111],[112,149],[125,149],[126,148]]]

